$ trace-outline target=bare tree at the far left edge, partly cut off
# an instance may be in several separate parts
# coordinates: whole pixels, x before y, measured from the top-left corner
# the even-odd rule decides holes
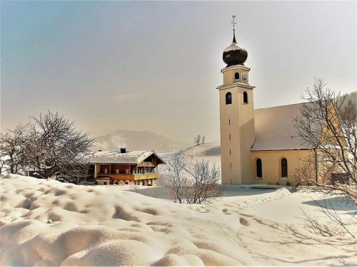
[[[1,171],[11,174],[19,172],[19,167],[24,163],[24,142],[28,128],[28,125],[17,125],[14,130],[6,130],[0,135]]]

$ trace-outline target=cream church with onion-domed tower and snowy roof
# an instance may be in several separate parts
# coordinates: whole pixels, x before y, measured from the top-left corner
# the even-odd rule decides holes
[[[248,52],[233,42],[223,51],[227,64],[218,86],[223,184],[293,183],[301,159],[313,152],[293,132],[302,104],[255,110]]]

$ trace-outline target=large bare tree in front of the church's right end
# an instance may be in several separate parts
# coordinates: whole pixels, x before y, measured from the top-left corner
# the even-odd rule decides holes
[[[293,118],[293,127],[303,145],[311,147],[311,154],[302,159],[296,169],[295,179],[300,184],[308,184],[311,192],[348,197],[357,200],[357,110],[356,105],[345,102],[345,96],[326,87],[321,78],[316,78],[313,89],[306,90],[307,100],[300,115]],[[328,216],[343,231],[343,220],[320,205],[323,214]],[[333,209],[333,208],[332,208]],[[356,224],[356,218],[351,219]],[[309,225],[316,231],[331,228],[308,218]],[[335,233],[334,233],[335,232]],[[346,231],[350,234],[348,231]]]

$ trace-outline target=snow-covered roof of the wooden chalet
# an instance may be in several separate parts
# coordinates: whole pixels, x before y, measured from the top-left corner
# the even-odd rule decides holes
[[[129,151],[126,153],[121,153],[120,151],[96,151],[93,152],[91,157],[89,157],[89,163],[108,163],[108,164],[115,164],[115,163],[125,163],[125,164],[138,164],[147,157],[151,155],[155,155],[160,159],[158,155],[154,151]],[[164,162],[161,159],[162,162]]]

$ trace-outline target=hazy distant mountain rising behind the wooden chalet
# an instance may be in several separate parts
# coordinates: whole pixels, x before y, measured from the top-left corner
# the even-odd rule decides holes
[[[126,147],[127,150],[155,150],[163,153],[185,150],[189,146],[188,143],[170,140],[155,132],[118,130],[96,137],[93,150],[119,150]]]

